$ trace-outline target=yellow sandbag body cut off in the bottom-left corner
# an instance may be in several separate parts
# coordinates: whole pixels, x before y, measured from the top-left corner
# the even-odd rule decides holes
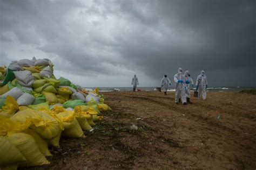
[[[5,137],[0,136],[0,167],[24,162],[26,159],[17,147]]]

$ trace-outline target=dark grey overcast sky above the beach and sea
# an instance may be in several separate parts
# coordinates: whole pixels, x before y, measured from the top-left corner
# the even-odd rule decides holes
[[[49,58],[85,87],[159,86],[178,67],[256,86],[256,1],[0,0],[0,65]]]

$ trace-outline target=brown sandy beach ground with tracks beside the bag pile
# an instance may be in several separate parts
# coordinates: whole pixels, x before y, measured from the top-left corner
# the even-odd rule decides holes
[[[210,92],[206,101],[182,105],[173,92],[102,94],[113,111],[86,138],[62,138],[51,164],[39,169],[256,167],[255,95]]]

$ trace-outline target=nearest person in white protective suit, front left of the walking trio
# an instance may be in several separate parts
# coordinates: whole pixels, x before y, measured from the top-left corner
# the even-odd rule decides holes
[[[186,105],[186,94],[185,94],[185,76],[182,74],[182,68],[178,69],[178,73],[174,75],[175,85],[175,103],[179,103],[180,98],[184,105]]]

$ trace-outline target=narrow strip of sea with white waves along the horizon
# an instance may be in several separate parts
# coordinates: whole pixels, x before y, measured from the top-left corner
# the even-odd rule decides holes
[[[94,89],[95,87],[86,87],[86,89]],[[157,87],[137,87],[142,91],[157,91]],[[241,90],[251,90],[256,89],[256,87],[208,87],[206,91],[219,91],[219,92],[229,92],[229,91],[241,91]],[[99,91],[132,91],[133,87],[99,87]],[[196,90],[196,88],[191,88],[191,91]],[[175,89],[169,88],[168,91],[175,91]]]

